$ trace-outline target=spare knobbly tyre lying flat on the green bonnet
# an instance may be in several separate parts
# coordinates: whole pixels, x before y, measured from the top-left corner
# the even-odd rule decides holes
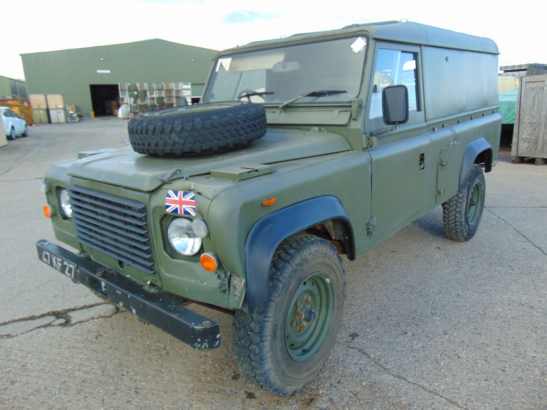
[[[264,136],[266,112],[253,103],[195,104],[144,113],[127,127],[137,153],[207,155],[243,147]]]

